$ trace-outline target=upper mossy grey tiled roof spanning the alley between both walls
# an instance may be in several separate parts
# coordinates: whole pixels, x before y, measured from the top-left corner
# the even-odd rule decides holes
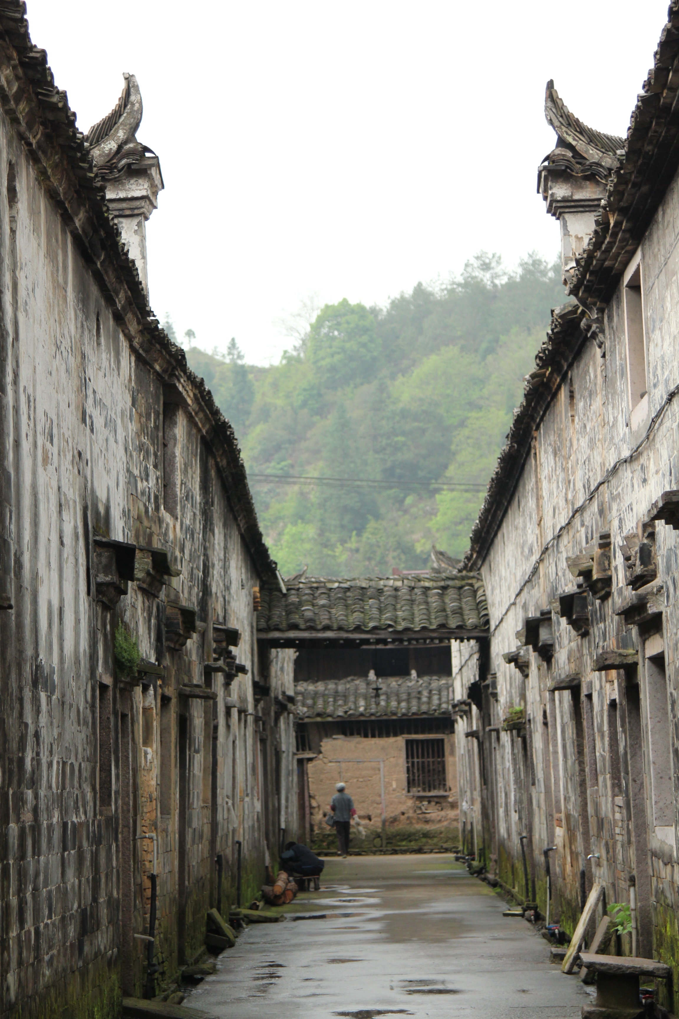
[[[258,630],[370,632],[485,630],[486,591],[474,574],[286,580],[262,590]]]

